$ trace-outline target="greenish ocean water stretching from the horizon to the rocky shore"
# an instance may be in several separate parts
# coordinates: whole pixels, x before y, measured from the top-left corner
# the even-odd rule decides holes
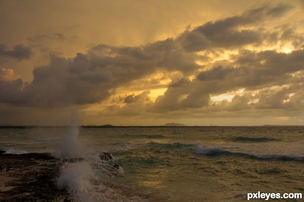
[[[77,201],[243,201],[304,193],[303,137],[304,127],[0,129],[0,149],[81,158],[56,179]]]

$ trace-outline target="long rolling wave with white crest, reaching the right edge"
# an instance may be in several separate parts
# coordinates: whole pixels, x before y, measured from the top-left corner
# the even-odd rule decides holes
[[[255,160],[282,160],[282,161],[304,161],[304,157],[294,157],[294,156],[287,156],[287,155],[277,155],[277,154],[268,154],[268,155],[256,155],[256,154],[248,154],[248,153],[241,153],[241,152],[233,152],[229,150],[225,150],[219,147],[213,146],[203,146],[200,142],[196,145],[195,149],[193,150],[196,154],[206,155],[210,157],[215,156],[235,156],[235,157],[243,157]]]

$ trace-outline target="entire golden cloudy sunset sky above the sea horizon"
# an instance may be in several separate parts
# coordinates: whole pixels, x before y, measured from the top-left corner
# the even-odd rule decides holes
[[[303,0],[0,0],[0,125],[304,125]]]

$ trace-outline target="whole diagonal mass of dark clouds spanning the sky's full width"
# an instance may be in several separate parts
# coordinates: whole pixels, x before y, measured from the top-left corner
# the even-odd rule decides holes
[[[5,96],[0,100],[43,108],[95,104],[115,94],[119,87],[135,85],[159,72],[178,72],[180,78],[168,84],[167,91],[154,103],[148,97],[149,91],[145,91],[146,86],[141,85],[149,82],[142,82],[138,86],[143,93],[129,93],[118,101],[124,107],[111,105],[107,109],[125,115],[200,108],[227,112],[298,109],[295,106],[303,106],[304,98],[299,91],[303,89],[304,50],[285,54],[244,49],[244,45],[259,45],[265,40],[292,41],[291,36],[297,36],[298,43],[303,44],[294,29],[281,26],[267,31],[258,26],[261,21],[281,17],[290,9],[284,5],[263,6],[240,16],[205,23],[192,31],[185,30],[177,38],[133,47],[99,44],[88,53],[78,53],[69,59],[53,55],[49,65],[33,70],[31,83],[23,83],[21,79],[2,81],[0,92]],[[36,37],[44,39],[46,36]],[[53,37],[64,39],[65,36],[56,33]],[[210,49],[217,52],[217,48],[237,48],[238,54],[207,67],[197,63],[198,60],[209,63],[210,59],[197,52]],[[155,80],[150,83],[161,85]],[[284,89],[271,89],[283,85]],[[214,95],[239,89],[244,89],[245,93],[236,95],[231,102],[218,103],[211,99]],[[253,94],[252,90],[258,93]]]

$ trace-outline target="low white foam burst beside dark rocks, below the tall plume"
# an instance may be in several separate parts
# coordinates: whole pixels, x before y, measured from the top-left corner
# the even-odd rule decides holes
[[[92,169],[90,162],[65,164],[57,179],[57,186],[61,189],[66,188],[70,196],[79,202],[146,201],[134,195],[130,187],[126,188],[123,185],[102,180]]]

